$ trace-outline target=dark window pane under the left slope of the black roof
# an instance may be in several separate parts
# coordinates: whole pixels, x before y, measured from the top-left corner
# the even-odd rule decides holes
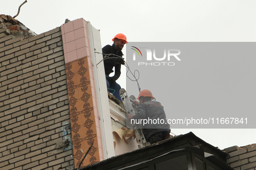
[[[186,155],[174,157],[172,159],[162,161],[155,164],[156,170],[188,170]]]

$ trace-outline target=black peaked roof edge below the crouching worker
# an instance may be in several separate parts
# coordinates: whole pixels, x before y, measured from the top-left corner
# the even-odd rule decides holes
[[[112,168],[110,164],[113,164],[115,161],[114,168],[123,168],[128,165],[139,163],[143,160],[149,160],[154,157],[158,157],[162,154],[165,154],[167,151],[178,150],[189,148],[191,146],[201,145],[204,152],[209,154],[213,154],[219,161],[225,164],[225,156],[227,153],[221,151],[220,149],[204,142],[202,139],[198,138],[194,133],[189,132],[185,135],[179,135],[177,137],[164,140],[162,142],[158,142],[153,145],[149,145],[144,148],[137,149],[132,152],[128,152],[125,154],[121,154],[115,157],[110,157],[107,160],[100,161],[99,163],[89,165],[84,167],[83,170],[92,170],[98,169],[100,167],[108,166],[110,169]]]

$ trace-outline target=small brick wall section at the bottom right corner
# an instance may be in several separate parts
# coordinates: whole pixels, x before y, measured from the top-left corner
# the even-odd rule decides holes
[[[234,170],[256,170],[256,145],[243,148],[233,146],[224,151],[229,152],[226,163]]]

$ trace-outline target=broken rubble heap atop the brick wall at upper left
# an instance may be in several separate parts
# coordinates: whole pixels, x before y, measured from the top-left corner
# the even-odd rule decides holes
[[[12,16],[0,15],[0,28],[6,28],[6,35],[13,35],[14,37],[21,37],[23,39],[36,36],[36,33],[27,28],[23,23],[14,19]]]

